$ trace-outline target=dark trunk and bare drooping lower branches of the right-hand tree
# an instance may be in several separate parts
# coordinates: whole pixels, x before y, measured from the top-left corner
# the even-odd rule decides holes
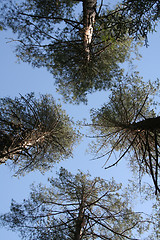
[[[129,140],[129,145],[119,159],[107,168],[115,166],[132,148],[141,166],[140,168],[142,169],[142,165],[144,165],[146,173],[151,175],[155,187],[155,194],[160,194],[160,185],[158,183],[158,174],[160,172],[160,116],[145,118],[144,120],[133,123],[115,121],[111,123],[114,124],[115,128],[119,128],[120,131],[124,130],[124,135],[121,135],[121,138],[118,139],[115,146],[118,146],[120,141],[124,141],[124,137]],[[113,146],[111,152],[113,152],[114,149],[115,147]]]

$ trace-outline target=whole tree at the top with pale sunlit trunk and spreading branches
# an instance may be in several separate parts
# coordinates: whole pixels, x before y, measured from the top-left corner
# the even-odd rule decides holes
[[[46,67],[66,100],[110,88],[136,41],[147,41],[159,19],[159,1],[123,0],[113,9],[97,0],[5,1],[0,22],[17,33],[17,56]],[[82,5],[82,7],[81,7]],[[80,11],[79,11],[80,9]]]

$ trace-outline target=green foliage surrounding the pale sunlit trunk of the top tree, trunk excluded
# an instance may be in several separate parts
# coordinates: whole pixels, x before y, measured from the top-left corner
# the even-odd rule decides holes
[[[120,63],[129,60],[136,43],[128,35],[128,26],[115,29],[117,17],[110,17],[102,7],[104,14],[96,18],[86,61],[84,22],[77,3],[25,0],[14,5],[8,1],[1,11],[5,25],[18,35],[18,59],[47,68],[66,100],[86,103],[87,93],[110,88],[122,75]]]

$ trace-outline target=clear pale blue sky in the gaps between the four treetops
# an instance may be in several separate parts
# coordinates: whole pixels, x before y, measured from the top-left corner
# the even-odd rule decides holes
[[[158,29],[157,29],[158,30]],[[6,43],[8,38],[14,37],[10,31],[0,32],[0,97],[15,97],[19,93],[22,95],[30,92],[36,94],[52,94],[57,100],[61,99],[56,93],[54,86],[53,76],[47,72],[46,69],[34,69],[27,63],[18,64],[16,56],[13,53],[14,44]],[[160,31],[149,36],[149,47],[145,46],[140,49],[142,59],[136,61],[137,70],[145,80],[156,80],[160,78]],[[82,120],[87,118],[89,120],[89,111],[91,108],[98,108],[107,101],[108,93],[97,92],[88,96],[88,105],[71,105],[64,104],[62,101],[63,109],[74,118],[74,120]],[[88,140],[84,141],[74,151],[73,159],[65,160],[57,165],[53,171],[47,172],[45,175],[39,172],[27,174],[25,177],[15,178],[14,172],[10,171],[5,165],[0,166],[0,213],[9,211],[10,202],[13,198],[17,202],[21,202],[28,196],[30,192],[30,185],[35,183],[46,183],[49,176],[54,176],[55,171],[60,166],[67,168],[72,173],[76,173],[77,169],[86,172],[89,170],[91,175],[100,176],[105,179],[114,177],[117,182],[127,181],[129,171],[125,167],[125,161],[110,170],[102,168],[104,160],[91,161],[92,156],[86,153]],[[138,203],[140,204],[140,203]],[[141,208],[142,206],[139,205]],[[145,208],[145,206],[143,206]],[[0,240],[20,240],[17,233],[0,229]]]

